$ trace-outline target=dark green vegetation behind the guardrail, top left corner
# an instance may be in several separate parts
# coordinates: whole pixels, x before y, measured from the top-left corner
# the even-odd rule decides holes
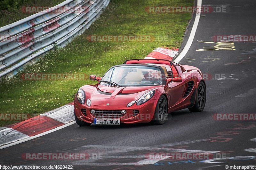
[[[58,5],[65,0],[1,0],[0,2],[0,27],[11,24],[20,19],[26,18],[34,13],[25,13],[22,7],[25,6],[47,6]]]

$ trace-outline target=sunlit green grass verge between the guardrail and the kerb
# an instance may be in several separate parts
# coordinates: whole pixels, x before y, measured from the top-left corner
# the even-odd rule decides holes
[[[191,14],[147,13],[147,6],[190,6],[193,0],[111,0],[84,34],[0,83],[0,113],[41,114],[70,103],[79,87],[95,81],[23,81],[22,73],[85,73],[102,76],[124,60],[144,58],[154,48],[180,47]],[[167,41],[88,42],[88,35],[169,35]],[[0,121],[0,126],[15,121]]]

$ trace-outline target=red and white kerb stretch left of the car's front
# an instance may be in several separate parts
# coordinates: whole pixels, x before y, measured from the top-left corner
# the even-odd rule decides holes
[[[0,149],[3,148],[3,145],[39,136],[70,122],[74,122],[73,103],[16,124],[0,127]]]

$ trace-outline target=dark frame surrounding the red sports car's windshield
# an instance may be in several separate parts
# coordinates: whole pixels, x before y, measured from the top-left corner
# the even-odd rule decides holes
[[[150,63],[149,63],[150,64]],[[161,74],[162,75],[165,75],[164,74],[164,69],[162,68],[162,67],[160,67],[160,66],[156,66],[156,65],[149,65],[149,64],[121,64],[121,65],[116,65],[116,66],[112,66],[112,67],[110,67],[109,69],[108,69],[108,71],[110,70],[110,69],[112,69],[112,68],[114,68],[114,67],[124,67],[124,66],[144,66],[144,67],[155,67],[155,68],[158,68],[158,69],[160,69],[160,71],[161,71]],[[106,73],[102,76],[102,79],[104,78],[104,76],[108,73],[108,71],[106,71]],[[122,87],[145,87],[145,86],[163,86],[163,85],[166,85],[166,77],[165,76],[162,76],[162,77],[164,77],[163,78],[163,83],[161,84],[161,85],[156,85],[156,84],[145,84],[145,85],[139,85],[138,84],[138,86],[136,86],[135,84],[133,84],[133,85],[131,85],[131,86],[129,86],[129,85],[125,85],[125,86],[123,86],[122,85]],[[101,79],[101,80],[102,80]],[[99,83],[100,84],[100,83]]]

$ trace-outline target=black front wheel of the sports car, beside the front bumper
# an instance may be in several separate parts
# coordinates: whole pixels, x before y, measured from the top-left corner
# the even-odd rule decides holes
[[[161,96],[156,104],[156,110],[150,124],[161,125],[164,124],[168,116],[168,103],[164,96]]]

